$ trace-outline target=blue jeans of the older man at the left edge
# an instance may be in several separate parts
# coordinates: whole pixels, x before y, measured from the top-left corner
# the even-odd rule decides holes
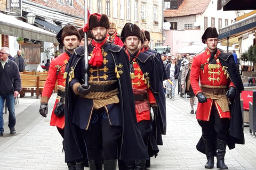
[[[6,106],[9,111],[9,128],[14,128],[16,124],[15,109],[14,109],[14,96],[13,94],[0,94],[0,131],[4,132],[4,99],[6,100]]]

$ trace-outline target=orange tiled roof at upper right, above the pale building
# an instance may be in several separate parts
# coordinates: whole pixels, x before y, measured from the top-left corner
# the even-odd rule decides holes
[[[184,0],[178,10],[165,10],[164,17],[177,17],[203,14],[211,0]]]

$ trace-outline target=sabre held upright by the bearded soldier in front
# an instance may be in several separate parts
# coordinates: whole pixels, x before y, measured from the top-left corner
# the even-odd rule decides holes
[[[87,10],[87,11],[86,11]],[[87,7],[87,1],[84,1],[84,24],[87,23],[88,20],[88,7]],[[87,44],[87,35],[86,32],[84,32],[84,66],[85,66],[85,79],[84,79],[84,84],[85,86],[88,86],[88,74],[87,70],[89,67],[89,60],[88,60],[88,44]]]

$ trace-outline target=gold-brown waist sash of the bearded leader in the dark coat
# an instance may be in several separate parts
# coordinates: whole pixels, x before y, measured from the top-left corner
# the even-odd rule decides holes
[[[114,84],[116,81],[117,80],[89,81],[89,84],[110,85]],[[118,89],[107,92],[91,91],[88,95],[84,96],[84,98],[92,99],[95,109],[99,109],[109,104],[119,103],[119,98],[117,97],[118,94]]]

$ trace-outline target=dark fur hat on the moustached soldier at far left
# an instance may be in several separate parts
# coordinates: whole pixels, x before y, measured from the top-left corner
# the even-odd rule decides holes
[[[58,42],[63,46],[63,39],[66,36],[77,36],[78,40],[80,40],[80,34],[77,31],[77,28],[74,25],[66,25],[65,27],[63,27],[59,33],[57,34],[56,38],[58,40]]]

